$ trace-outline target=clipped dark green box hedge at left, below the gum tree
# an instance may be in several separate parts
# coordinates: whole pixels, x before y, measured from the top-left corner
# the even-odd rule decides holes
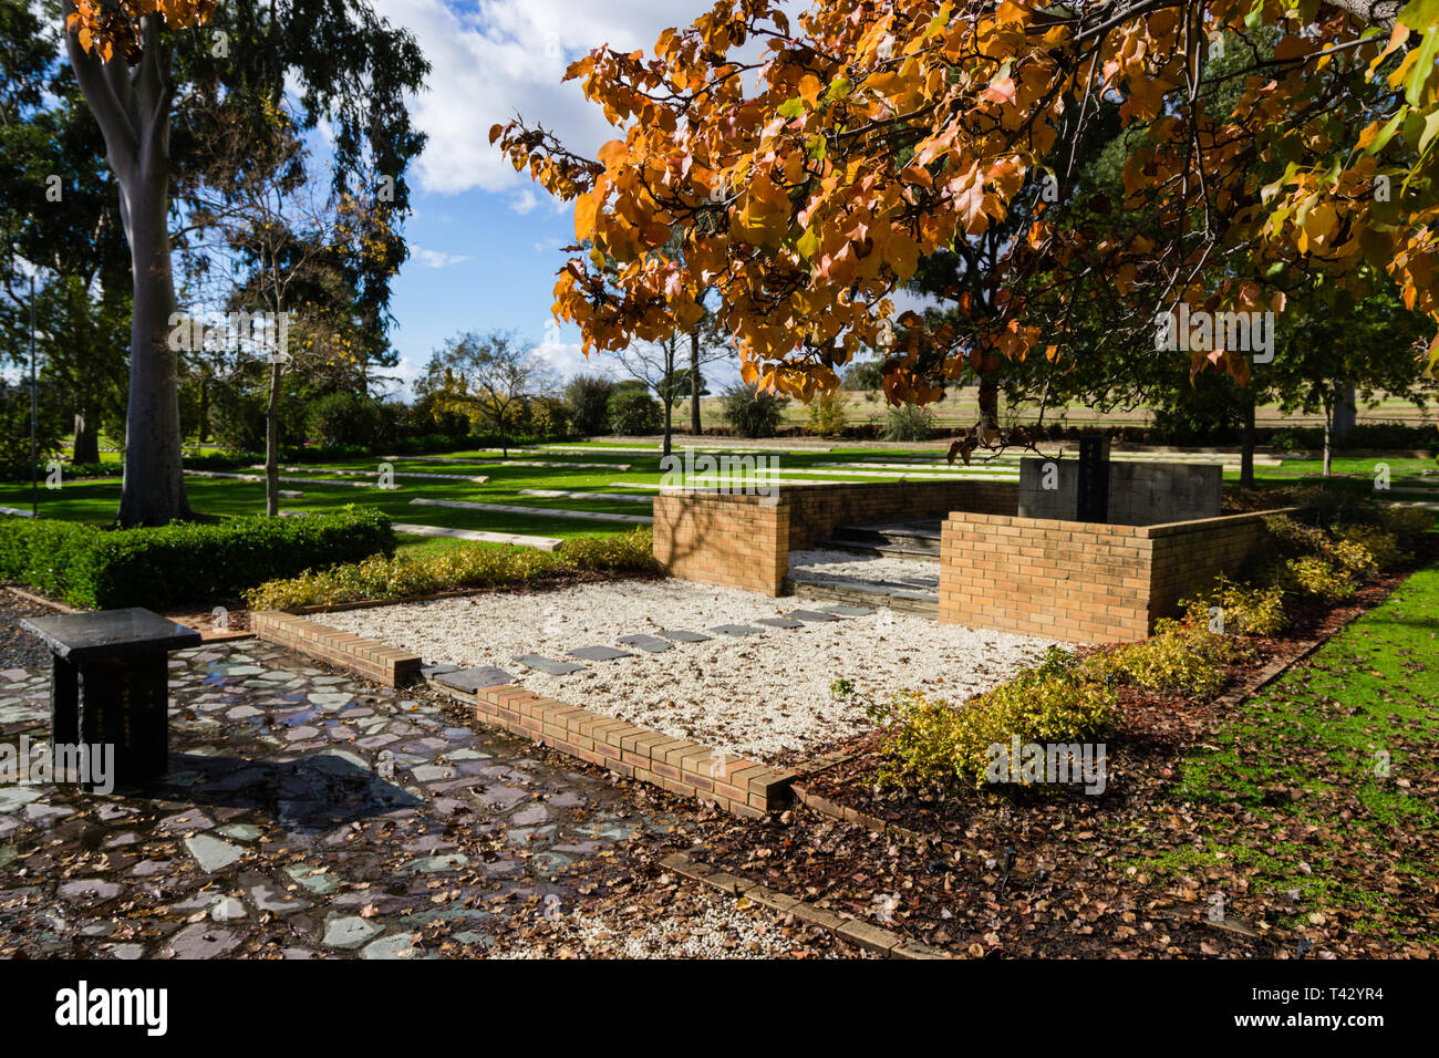
[[[376,553],[394,553],[394,530],[367,507],[132,530],[0,520],[0,577],[95,609],[217,605],[275,577]]]

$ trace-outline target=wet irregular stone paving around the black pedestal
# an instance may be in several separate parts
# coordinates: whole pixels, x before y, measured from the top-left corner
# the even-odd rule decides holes
[[[429,691],[255,641],[170,665],[163,782],[0,787],[0,957],[489,954],[695,826]],[[0,743],[47,724],[47,669],[0,674]]]

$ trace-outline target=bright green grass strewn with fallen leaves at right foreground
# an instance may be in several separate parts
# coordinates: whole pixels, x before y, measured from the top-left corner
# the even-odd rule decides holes
[[[1179,797],[1200,806],[1200,820],[1216,813],[1217,826],[1202,828],[1197,848],[1134,864],[1238,871],[1256,894],[1298,894],[1289,924],[1338,911],[1360,933],[1397,937],[1412,921],[1397,882],[1439,884],[1423,838],[1439,832],[1436,738],[1439,564],[1248,700],[1191,754]],[[1389,754],[1389,774],[1377,754]],[[1376,864],[1384,869],[1360,869]]]

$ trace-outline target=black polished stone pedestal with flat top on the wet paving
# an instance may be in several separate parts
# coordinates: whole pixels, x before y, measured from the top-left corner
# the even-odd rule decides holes
[[[114,746],[117,786],[161,776],[170,759],[165,655],[199,646],[200,633],[140,607],[26,618],[50,648],[50,738]]]

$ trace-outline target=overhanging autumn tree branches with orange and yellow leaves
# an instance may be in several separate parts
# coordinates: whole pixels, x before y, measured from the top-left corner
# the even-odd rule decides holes
[[[721,0],[652,55],[597,48],[570,68],[620,130],[593,158],[524,119],[491,138],[574,202],[554,308],[586,350],[684,333],[712,289],[748,383],[809,399],[868,347],[888,353],[892,402],[925,402],[931,366],[1084,356],[1075,309],[1097,294],[1082,327],[1115,348],[1153,350],[1179,304],[1279,312],[1314,272],[1354,297],[1379,273],[1439,318],[1436,14],[1439,0],[817,0],[791,20],[777,0]],[[1118,200],[1076,180],[1111,114]],[[1086,223],[1061,223],[1066,209]],[[984,297],[957,298],[963,325],[896,318],[921,259],[1006,225]],[[676,233],[682,259],[665,250]],[[1236,353],[1194,348],[1189,371],[1243,381]],[[1000,440],[980,426],[977,442]]]

